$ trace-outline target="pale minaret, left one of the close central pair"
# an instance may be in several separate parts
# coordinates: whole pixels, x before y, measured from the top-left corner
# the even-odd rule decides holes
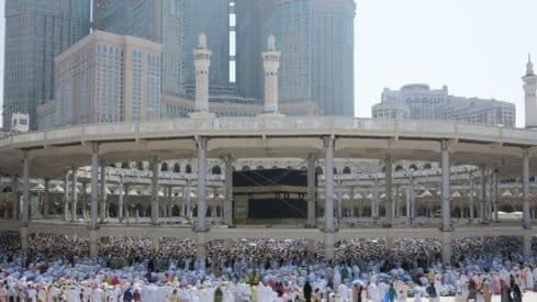
[[[209,67],[211,66],[211,51],[206,48],[206,36],[201,33],[198,37],[198,47],[194,48],[195,68],[195,104],[191,118],[211,118],[209,112]]]

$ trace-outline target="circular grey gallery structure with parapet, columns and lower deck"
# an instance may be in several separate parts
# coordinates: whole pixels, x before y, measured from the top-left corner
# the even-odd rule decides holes
[[[254,119],[209,119],[188,121],[165,121],[153,123],[124,123],[114,125],[89,125],[47,132],[20,134],[0,139],[0,167],[4,172],[16,175],[22,170],[23,206],[20,215],[20,233],[23,248],[32,227],[38,225],[40,232],[53,231],[58,226],[45,227],[31,222],[30,217],[30,177],[52,178],[59,171],[72,167],[88,165],[91,167],[90,222],[87,230],[77,226],[78,235],[91,239],[91,255],[97,255],[97,239],[109,234],[104,230],[114,227],[114,232],[128,232],[123,226],[102,224],[105,217],[105,165],[120,160],[150,158],[153,167],[152,206],[148,228],[133,228],[148,234],[150,237],[169,237],[178,232],[181,236],[193,237],[200,247],[199,257],[204,256],[203,247],[208,241],[225,237],[280,237],[278,228],[210,228],[206,223],[206,158],[223,158],[226,168],[231,161],[240,157],[298,157],[306,158],[309,177],[314,175],[314,158],[324,160],[324,225],[312,230],[281,230],[286,237],[299,236],[323,242],[327,258],[334,257],[334,244],[351,237],[370,237],[368,234],[383,234],[385,238],[425,236],[433,232],[427,228],[393,227],[395,206],[393,197],[393,159],[437,160],[441,166],[441,227],[434,231],[434,238],[443,243],[449,242],[459,234],[484,234],[496,227],[470,231],[454,230],[451,217],[451,172],[452,159],[458,164],[493,168],[508,177],[521,175],[523,191],[522,227],[510,230],[510,234],[521,234],[524,238],[532,237],[529,175],[533,172],[530,159],[535,158],[537,134],[526,130],[507,130],[503,127],[461,125],[451,123],[433,123],[416,121],[376,121],[346,118],[254,118]],[[321,121],[320,121],[321,120]],[[338,230],[335,217],[334,158],[374,158],[383,159],[385,221],[384,228]],[[197,157],[198,170],[198,215],[193,230],[165,228],[159,225],[158,217],[158,163],[160,158]],[[21,160],[15,160],[20,158]],[[447,167],[447,168],[446,168]],[[534,167],[535,168],[535,167]],[[231,170],[231,169],[230,169]],[[535,175],[535,172],[534,172]],[[226,169],[228,176],[228,169]],[[71,174],[71,181],[75,174]],[[99,183],[100,181],[100,183]],[[309,205],[314,204],[312,194],[313,181],[309,181]],[[99,184],[101,187],[99,188]],[[483,186],[485,186],[483,181]],[[66,187],[67,188],[67,187]],[[224,202],[224,221],[233,221],[230,211],[232,203],[232,184],[224,184],[226,195]],[[72,189],[72,188],[71,188]],[[99,189],[101,192],[99,192]],[[483,190],[484,191],[484,190]],[[76,193],[71,194],[76,195]],[[491,221],[491,205],[482,201],[480,216]],[[75,209],[76,199],[71,206]],[[311,206],[309,206],[311,208]],[[373,211],[374,212],[374,211]],[[497,211],[496,211],[497,212]],[[314,212],[313,212],[314,213]],[[376,213],[378,214],[378,213]],[[314,214],[309,209],[309,225],[313,226]],[[75,226],[72,226],[75,227]],[[497,227],[499,228],[499,227]],[[164,233],[163,233],[164,232]],[[377,233],[376,233],[377,232]],[[398,233],[399,232],[399,233]],[[484,232],[484,233],[483,233]],[[514,232],[514,233],[513,233]],[[113,232],[112,232],[113,233]],[[190,234],[190,235],[187,235]],[[156,234],[156,235],[152,235]],[[256,235],[257,234],[257,235]],[[377,235],[376,235],[377,236]],[[171,235],[171,237],[175,237]],[[378,237],[378,236],[377,236]],[[530,241],[530,239],[529,239]],[[388,241],[390,242],[390,239]],[[449,245],[445,245],[444,259],[449,259]],[[526,239],[525,239],[525,246]],[[525,248],[526,249],[526,248]]]

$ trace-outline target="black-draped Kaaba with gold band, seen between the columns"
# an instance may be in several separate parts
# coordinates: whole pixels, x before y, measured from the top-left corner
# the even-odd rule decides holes
[[[233,172],[234,212],[237,219],[305,219],[307,172],[262,169]]]

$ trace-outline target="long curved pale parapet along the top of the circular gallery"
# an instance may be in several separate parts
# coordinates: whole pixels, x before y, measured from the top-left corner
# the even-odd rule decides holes
[[[1,147],[76,142],[188,136],[345,135],[368,137],[458,138],[537,145],[537,131],[437,121],[344,116],[176,119],[139,123],[91,124],[16,134],[0,138]]]

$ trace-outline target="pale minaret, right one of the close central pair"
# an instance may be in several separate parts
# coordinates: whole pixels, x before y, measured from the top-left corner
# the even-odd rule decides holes
[[[267,40],[267,51],[262,53],[262,67],[265,69],[265,114],[280,115],[278,113],[278,68],[280,67],[280,52],[276,51],[276,37],[270,35]]]

